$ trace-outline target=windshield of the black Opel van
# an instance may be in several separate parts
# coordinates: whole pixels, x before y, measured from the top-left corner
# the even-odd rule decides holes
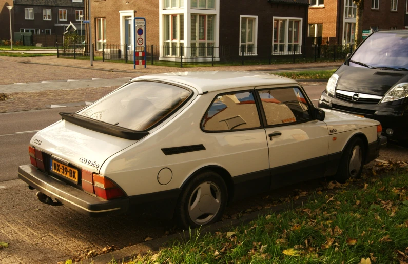
[[[372,34],[353,54],[350,66],[408,71],[408,34]]]

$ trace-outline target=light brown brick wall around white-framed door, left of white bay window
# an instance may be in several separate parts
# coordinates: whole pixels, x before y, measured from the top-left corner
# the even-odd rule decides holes
[[[93,43],[96,42],[96,18],[106,18],[106,43],[121,43],[119,11],[122,10],[133,10],[135,17],[146,18],[146,44],[159,45],[159,0],[91,0]]]

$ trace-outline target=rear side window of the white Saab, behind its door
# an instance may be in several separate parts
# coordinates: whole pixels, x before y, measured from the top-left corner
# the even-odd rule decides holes
[[[217,95],[201,121],[205,131],[259,128],[261,123],[253,92]]]

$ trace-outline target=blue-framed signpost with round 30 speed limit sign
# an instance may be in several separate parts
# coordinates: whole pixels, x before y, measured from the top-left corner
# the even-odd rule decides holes
[[[133,19],[133,69],[136,65],[144,65],[146,68],[146,19],[135,17]],[[136,57],[142,58],[136,60]]]

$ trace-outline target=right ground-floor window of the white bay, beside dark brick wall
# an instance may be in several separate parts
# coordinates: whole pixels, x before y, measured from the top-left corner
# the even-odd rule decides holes
[[[211,56],[215,43],[215,15],[192,14],[191,18],[191,56]]]

